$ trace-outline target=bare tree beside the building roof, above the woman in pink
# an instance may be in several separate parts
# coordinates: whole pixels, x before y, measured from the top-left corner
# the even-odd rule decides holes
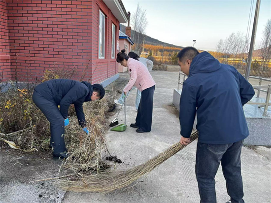
[[[148,25],[146,9],[142,9],[139,3],[137,3],[137,8],[135,13],[131,17],[132,27],[133,27],[133,36],[132,40],[135,42],[135,51],[140,56],[142,51],[142,45],[144,41],[144,34],[146,27]]]

